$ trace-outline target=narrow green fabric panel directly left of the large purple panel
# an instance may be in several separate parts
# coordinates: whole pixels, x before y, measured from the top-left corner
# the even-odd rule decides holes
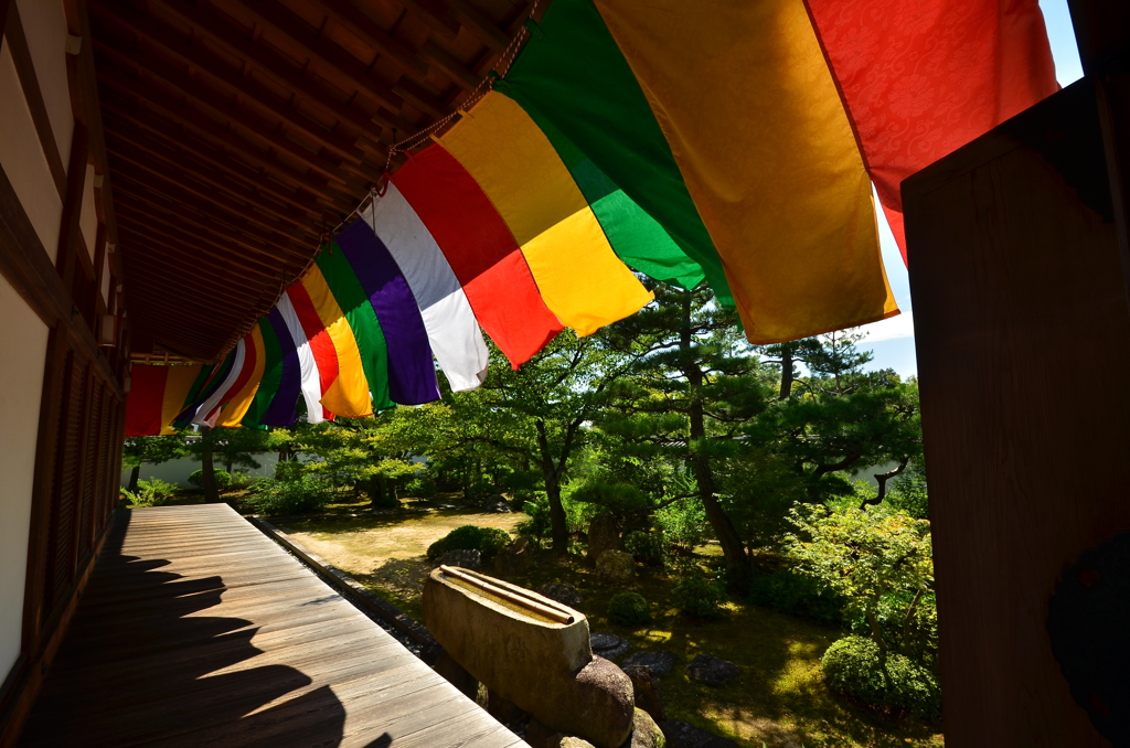
[[[337,242],[322,247],[315,259],[338,306],[354,331],[360,350],[360,365],[373,393],[373,411],[380,412],[395,406],[389,395],[389,347],[368,294]]]

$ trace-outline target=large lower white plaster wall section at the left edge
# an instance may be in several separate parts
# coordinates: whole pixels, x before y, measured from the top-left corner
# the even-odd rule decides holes
[[[8,164],[3,164],[7,169]],[[19,656],[47,327],[0,276],[0,680]]]

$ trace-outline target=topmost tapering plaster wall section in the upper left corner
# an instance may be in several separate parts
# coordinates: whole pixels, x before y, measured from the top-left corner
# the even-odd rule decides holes
[[[19,6],[19,19],[32,50],[32,64],[47,107],[51,131],[59,145],[59,157],[63,168],[67,168],[75,116],[70,111],[67,86],[68,32],[63,3],[60,0],[18,0],[16,5]]]

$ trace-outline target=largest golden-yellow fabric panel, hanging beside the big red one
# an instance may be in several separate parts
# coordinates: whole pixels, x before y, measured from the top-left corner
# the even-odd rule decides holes
[[[898,313],[871,184],[803,0],[596,0],[751,342]]]

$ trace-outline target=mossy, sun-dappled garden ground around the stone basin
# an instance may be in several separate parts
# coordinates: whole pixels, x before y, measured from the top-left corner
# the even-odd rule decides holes
[[[401,514],[375,514],[360,504],[340,504],[318,516],[293,517],[278,524],[419,619],[420,590],[431,568],[424,558],[428,545],[462,524],[513,530],[525,519],[521,514],[483,514],[471,507],[453,506],[453,499],[449,502],[408,503],[416,511]],[[689,564],[710,567],[719,560],[716,554],[716,547],[696,549]],[[879,715],[827,690],[820,655],[842,635],[837,628],[732,601],[718,620],[688,618],[671,602],[676,583],[672,575],[662,569],[637,569],[632,589],[649,600],[653,620],[636,629],[607,618],[608,601],[624,586],[599,580],[583,558],[544,553],[528,574],[510,581],[529,588],[568,582],[585,598],[580,609],[589,617],[592,630],[623,636],[632,643],[632,652],[675,652],[675,671],[661,680],[668,719],[685,720],[750,748],[763,743],[767,748],[944,745],[937,724]],[[483,571],[493,573],[489,567]],[[687,677],[686,664],[697,654],[734,662],[741,673],[720,687],[695,681]]]

